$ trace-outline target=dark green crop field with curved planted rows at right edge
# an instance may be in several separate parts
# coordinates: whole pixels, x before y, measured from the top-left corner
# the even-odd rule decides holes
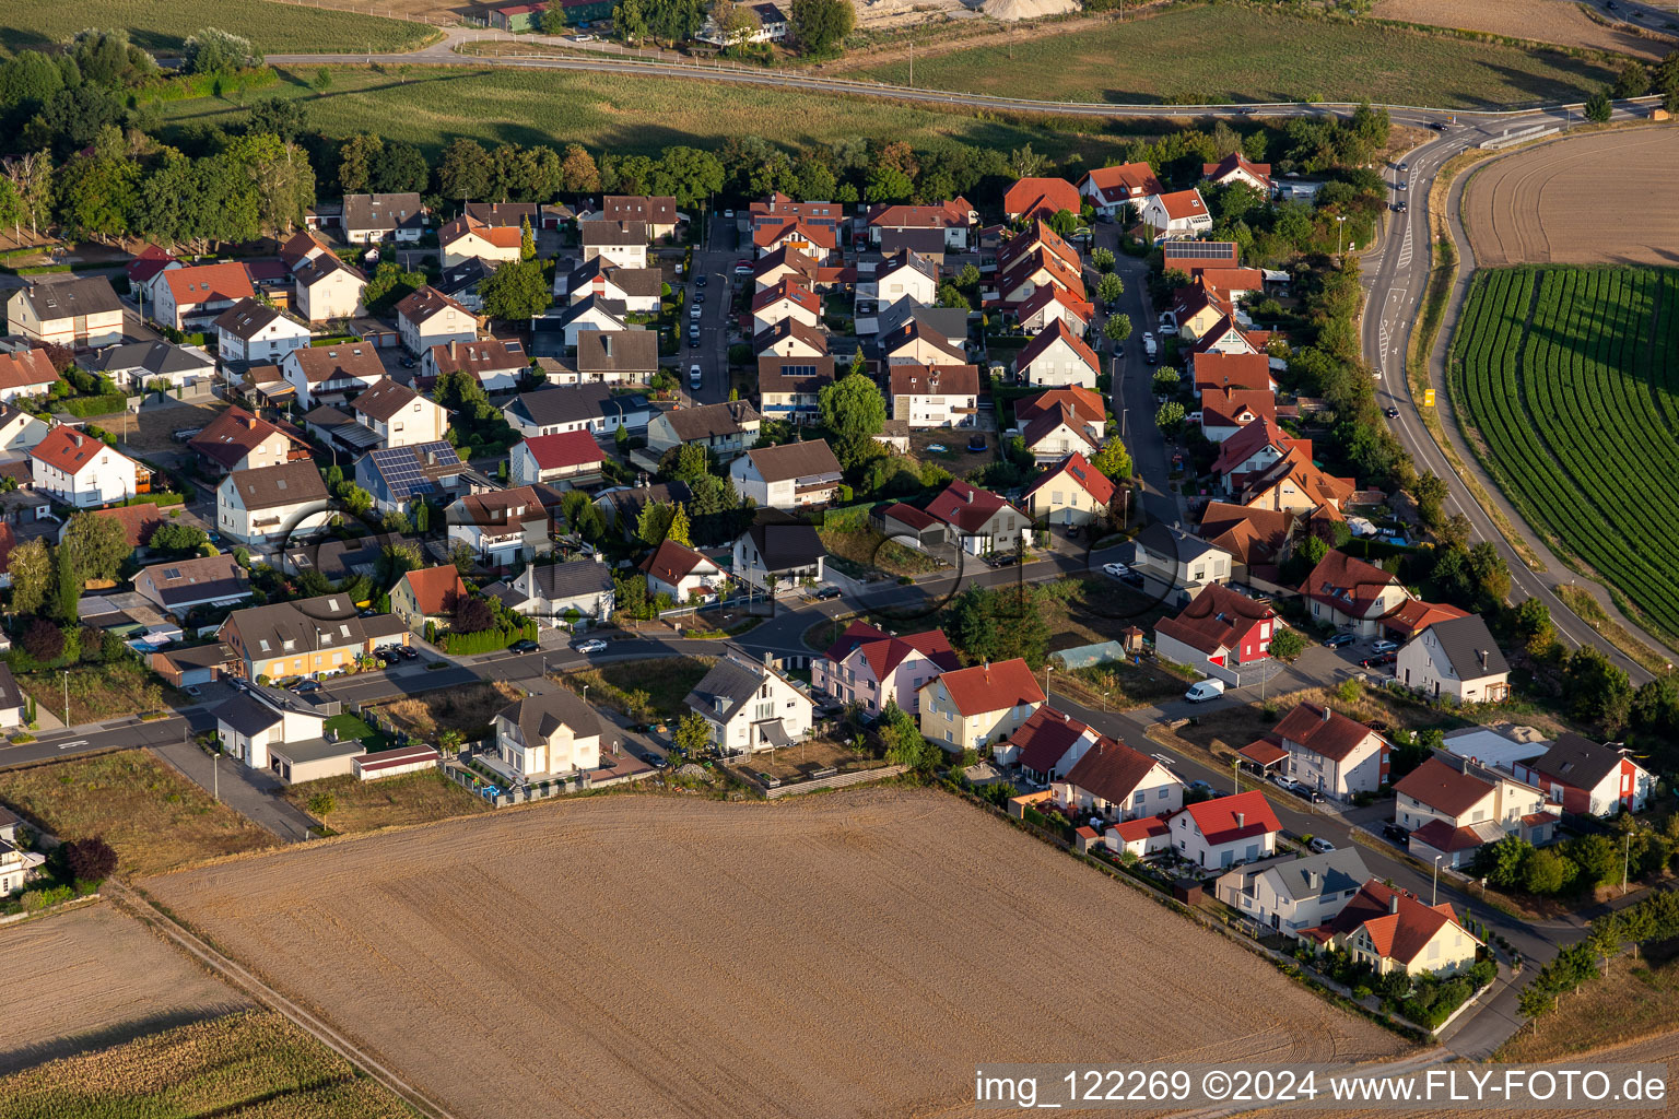
[[[1483,268],[1451,389],[1525,515],[1679,634],[1679,272]]]

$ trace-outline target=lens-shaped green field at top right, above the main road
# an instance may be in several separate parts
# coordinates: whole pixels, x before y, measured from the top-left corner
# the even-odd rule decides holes
[[[858,70],[907,82],[908,62]],[[1580,99],[1608,67],[1380,22],[1241,5],[1179,8],[1095,30],[915,60],[915,86],[1044,101],[1382,101],[1444,107]]]

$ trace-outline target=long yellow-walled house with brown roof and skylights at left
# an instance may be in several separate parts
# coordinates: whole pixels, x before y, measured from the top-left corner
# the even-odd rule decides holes
[[[408,644],[408,627],[395,614],[361,617],[337,592],[237,609],[217,639],[233,653],[233,673],[260,683],[341,673],[374,649]]]

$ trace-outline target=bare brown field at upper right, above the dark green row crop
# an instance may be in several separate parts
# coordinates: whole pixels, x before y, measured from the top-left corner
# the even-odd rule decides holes
[[[1478,265],[1672,265],[1679,133],[1588,133],[1494,159],[1464,188]],[[1585,215],[1597,215],[1587,220]]]

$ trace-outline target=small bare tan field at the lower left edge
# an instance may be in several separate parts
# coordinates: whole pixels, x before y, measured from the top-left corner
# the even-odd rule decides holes
[[[111,903],[0,929],[0,1075],[250,1005]]]

